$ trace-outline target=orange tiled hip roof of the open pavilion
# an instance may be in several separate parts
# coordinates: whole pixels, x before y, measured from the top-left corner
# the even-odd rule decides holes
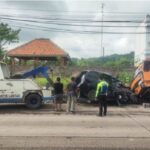
[[[10,57],[51,57],[68,56],[68,54],[49,39],[35,39],[10,50]]]

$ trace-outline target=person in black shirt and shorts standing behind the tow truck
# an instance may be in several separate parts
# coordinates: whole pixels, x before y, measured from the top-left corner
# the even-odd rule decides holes
[[[63,101],[63,84],[61,83],[61,78],[57,77],[54,83],[54,95],[55,97],[55,109],[56,111],[61,111],[61,104]]]

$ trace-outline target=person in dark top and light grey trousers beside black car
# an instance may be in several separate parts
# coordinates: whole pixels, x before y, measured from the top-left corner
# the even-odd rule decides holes
[[[77,85],[75,78],[71,77],[71,81],[67,85],[67,112],[75,113],[75,103],[77,99]]]

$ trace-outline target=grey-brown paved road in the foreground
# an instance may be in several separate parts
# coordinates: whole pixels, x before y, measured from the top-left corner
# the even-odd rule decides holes
[[[75,115],[53,109],[0,106],[0,150],[150,149],[150,108],[109,107],[106,117],[90,105],[77,105]]]

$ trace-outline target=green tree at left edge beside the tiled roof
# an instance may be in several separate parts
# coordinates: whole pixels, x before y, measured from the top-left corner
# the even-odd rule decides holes
[[[20,30],[13,30],[8,24],[0,23],[0,59],[4,56],[4,46],[6,44],[18,42]]]

